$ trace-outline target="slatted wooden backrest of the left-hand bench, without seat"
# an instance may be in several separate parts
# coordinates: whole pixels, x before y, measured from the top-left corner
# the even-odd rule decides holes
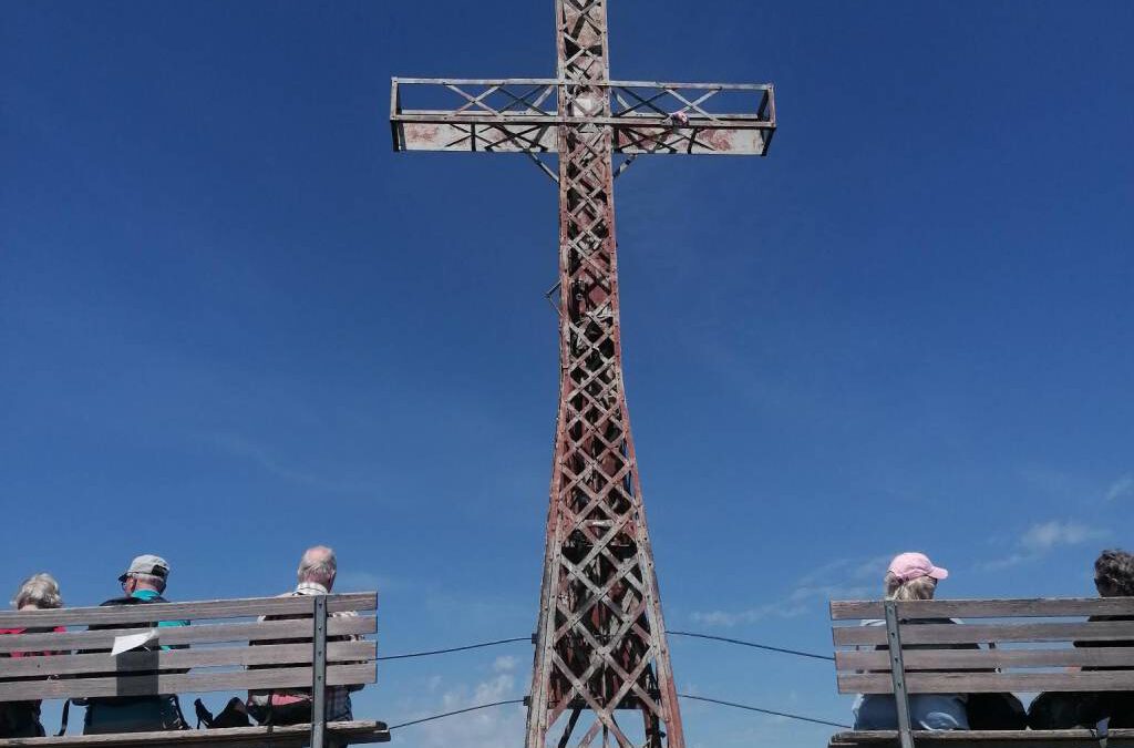
[[[376,595],[324,599],[332,613],[325,682],[373,682],[375,645],[355,639],[375,630],[375,617],[358,613],[375,610]],[[314,597],[295,596],[5,613],[0,625],[39,630],[0,634],[0,701],[310,688],[314,608]],[[285,617],[259,620],[264,615]],[[177,620],[191,623],[151,628]],[[113,628],[51,630],[59,625]],[[110,654],[118,637],[138,633],[152,636],[144,648]]]

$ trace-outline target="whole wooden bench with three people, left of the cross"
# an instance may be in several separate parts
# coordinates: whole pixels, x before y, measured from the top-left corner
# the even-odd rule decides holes
[[[381,722],[322,720],[324,687],[373,683],[376,595],[318,595],[0,613],[0,701],[247,689],[311,688],[312,724],[0,739],[8,746],[304,746],[386,742]],[[355,615],[331,615],[354,613]],[[359,613],[362,613],[359,615]],[[261,616],[273,620],[262,621]],[[286,617],[285,617],[286,616]],[[188,620],[187,627],[150,628]],[[67,631],[56,632],[57,627]],[[39,632],[32,632],[32,630]],[[110,654],[116,639],[153,632],[147,649]],[[10,653],[56,653],[6,656]],[[189,705],[192,706],[192,705]],[[185,709],[192,718],[192,708]],[[45,728],[50,729],[49,725]]]

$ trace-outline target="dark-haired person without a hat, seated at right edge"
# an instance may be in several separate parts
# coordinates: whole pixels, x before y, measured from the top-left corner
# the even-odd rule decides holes
[[[1100,597],[1134,597],[1134,555],[1103,551],[1094,562],[1094,587]],[[1092,615],[1089,621],[1134,621],[1131,615]],[[1134,641],[1076,641],[1076,647],[1134,647]],[[1084,667],[1086,670],[1126,670]],[[1134,682],[1134,673],[1131,674]],[[1134,691],[1040,694],[1027,711],[1033,730],[1093,728],[1105,718],[1111,728],[1134,728]]]

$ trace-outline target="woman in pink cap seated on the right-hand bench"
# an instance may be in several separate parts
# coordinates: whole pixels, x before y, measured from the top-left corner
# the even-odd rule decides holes
[[[888,600],[933,599],[937,582],[949,575],[934,566],[923,553],[903,553],[894,557],[883,581]],[[925,620],[920,623],[951,623]],[[864,625],[885,625],[868,621]],[[964,645],[962,645],[964,646]],[[906,647],[916,648],[917,645]],[[885,648],[885,647],[882,647]],[[909,697],[909,720],[915,730],[967,730],[966,696],[963,694],[914,694]],[[855,730],[897,730],[898,709],[889,694],[860,694],[854,705]]]

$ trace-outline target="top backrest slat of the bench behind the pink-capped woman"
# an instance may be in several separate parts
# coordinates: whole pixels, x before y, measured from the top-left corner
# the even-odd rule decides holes
[[[881,600],[833,600],[832,621],[881,619]],[[898,613],[911,619],[1060,617],[1134,615],[1134,597],[1031,598],[1008,600],[904,600]]]

